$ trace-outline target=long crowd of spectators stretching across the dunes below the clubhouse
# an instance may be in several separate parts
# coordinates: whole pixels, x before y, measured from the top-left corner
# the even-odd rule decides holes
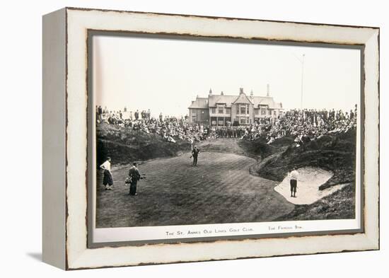
[[[214,127],[204,124],[192,124],[185,117],[151,117],[150,110],[138,110],[132,115],[126,108],[109,111],[96,107],[96,121],[107,122],[126,127],[137,132],[159,134],[167,141],[177,139],[185,141],[202,141],[204,139],[237,138],[255,140],[265,138],[272,144],[282,137],[293,137],[296,146],[317,139],[324,134],[347,132],[356,128],[356,105],[354,110],[288,110],[278,117],[267,117],[249,126]],[[125,116],[125,117],[124,117]]]

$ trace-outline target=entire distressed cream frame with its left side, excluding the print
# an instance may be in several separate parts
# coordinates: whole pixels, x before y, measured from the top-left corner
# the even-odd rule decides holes
[[[91,50],[93,36],[110,33],[359,50],[360,228],[95,243]],[[76,270],[379,249],[379,28],[63,8],[43,17],[42,107],[42,249],[51,265]]]

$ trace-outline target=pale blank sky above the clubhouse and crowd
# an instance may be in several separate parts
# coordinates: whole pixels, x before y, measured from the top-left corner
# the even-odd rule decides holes
[[[109,110],[182,116],[210,88],[266,95],[267,84],[286,110],[300,108],[302,75],[303,108],[359,103],[359,50],[95,35],[92,62],[95,105]]]

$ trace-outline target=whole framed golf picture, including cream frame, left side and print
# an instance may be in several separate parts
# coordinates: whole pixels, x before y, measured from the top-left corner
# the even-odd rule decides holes
[[[43,259],[379,249],[379,28],[43,17]]]

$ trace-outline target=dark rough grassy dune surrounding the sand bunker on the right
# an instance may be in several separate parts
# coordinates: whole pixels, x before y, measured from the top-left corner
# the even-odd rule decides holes
[[[281,182],[294,167],[311,166],[334,173],[330,180],[320,185],[320,190],[332,185],[347,186],[313,204],[296,205],[292,212],[276,220],[354,219],[355,130],[346,134],[325,135],[298,148],[290,138],[281,140],[274,141],[272,146],[264,146],[260,140],[240,144],[245,149],[262,154],[262,159],[251,166],[250,173]]]

